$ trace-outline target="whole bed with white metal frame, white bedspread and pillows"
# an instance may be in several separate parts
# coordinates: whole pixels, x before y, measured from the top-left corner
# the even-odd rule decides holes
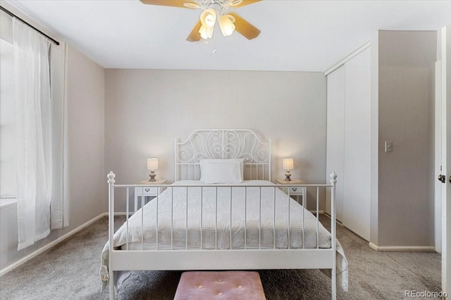
[[[312,214],[304,209],[307,193],[299,204],[271,183],[271,140],[253,131],[197,130],[174,147],[175,182],[152,185],[161,193],[132,216],[137,185],[116,185],[108,174],[109,242],[100,273],[110,299],[128,270],[316,268],[330,275],[332,299],[337,283],[347,291],[347,260],[335,237],[335,173],[330,184],[292,185],[316,191]],[[330,233],[319,221],[323,189],[331,190]],[[115,199],[126,203],[116,233]]]

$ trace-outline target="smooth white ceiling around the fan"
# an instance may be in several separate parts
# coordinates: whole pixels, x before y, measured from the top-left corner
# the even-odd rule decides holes
[[[376,30],[451,25],[451,1],[264,0],[235,9],[261,30],[257,39],[216,30],[206,45],[185,41],[197,9],[139,0],[8,3],[105,68],[323,72]]]

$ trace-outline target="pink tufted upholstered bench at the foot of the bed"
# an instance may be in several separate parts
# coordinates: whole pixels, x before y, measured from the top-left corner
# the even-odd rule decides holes
[[[260,275],[249,271],[184,272],[174,300],[265,300]]]

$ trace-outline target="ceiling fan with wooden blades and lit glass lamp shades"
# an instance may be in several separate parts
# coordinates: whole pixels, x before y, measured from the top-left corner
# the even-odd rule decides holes
[[[230,8],[238,8],[254,4],[261,0],[140,0],[143,4],[173,6],[181,8],[202,9],[199,20],[192,29],[187,41],[199,41],[200,39],[211,39],[214,25],[218,22],[219,29],[224,37],[233,34],[236,30],[247,39],[255,39],[260,30],[241,18]]]

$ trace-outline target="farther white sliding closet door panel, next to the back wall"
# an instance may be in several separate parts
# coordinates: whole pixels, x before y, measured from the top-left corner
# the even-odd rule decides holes
[[[336,185],[337,219],[343,211],[343,150],[345,143],[345,67],[341,66],[327,76],[327,155],[326,182],[332,171],[338,174]],[[330,214],[330,190],[327,191],[326,213]]]

